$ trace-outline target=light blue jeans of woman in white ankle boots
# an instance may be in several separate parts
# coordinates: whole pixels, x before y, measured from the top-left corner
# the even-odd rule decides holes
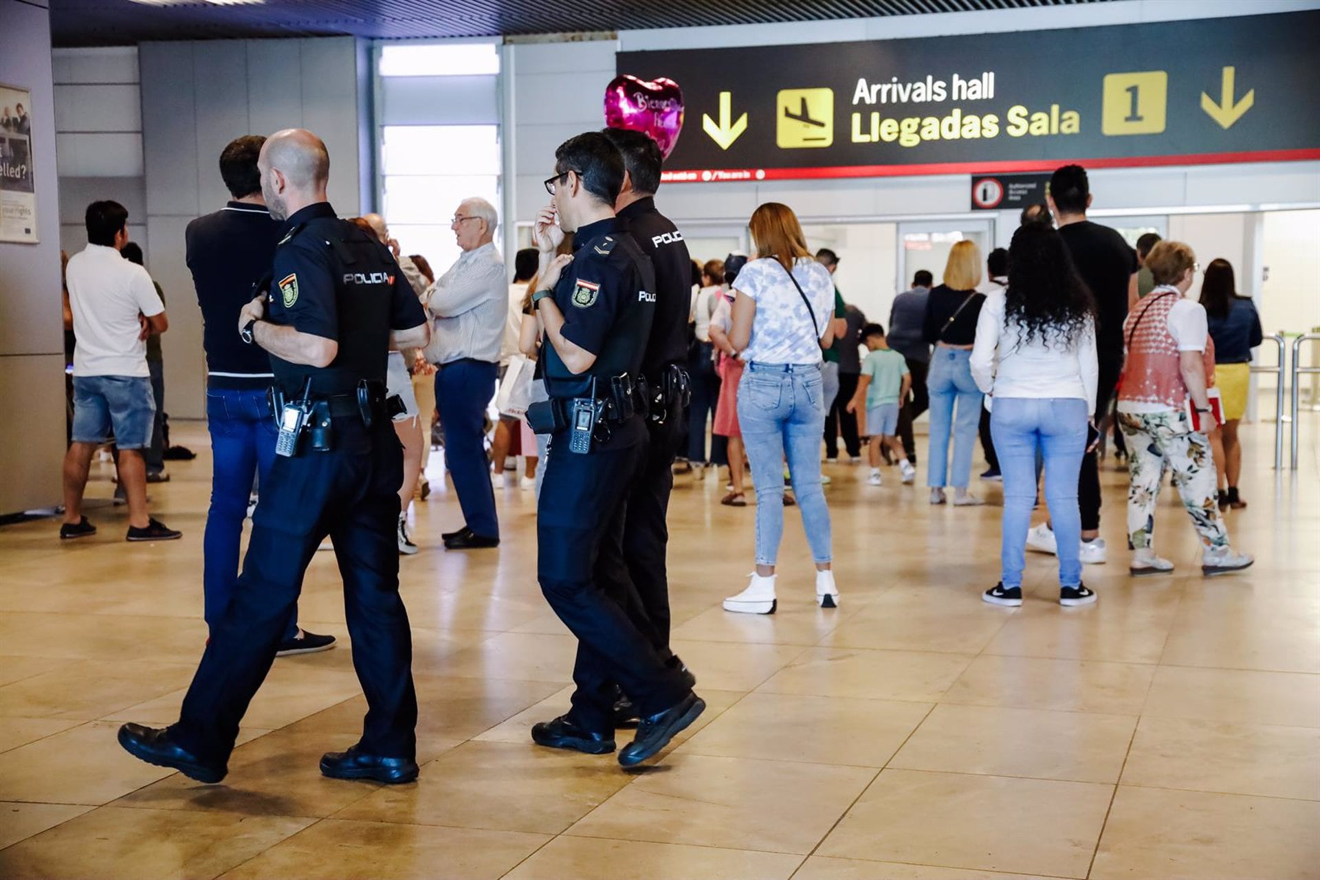
[[[817,565],[830,561],[829,508],[821,489],[825,391],[820,364],[747,364],[738,424],[756,484],[756,565],[775,565],[784,534],[784,456]]]

